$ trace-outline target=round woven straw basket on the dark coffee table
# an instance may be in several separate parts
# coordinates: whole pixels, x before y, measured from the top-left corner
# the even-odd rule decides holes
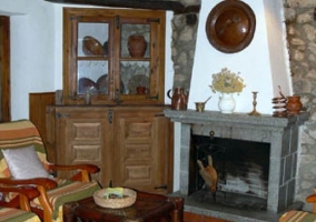
[[[93,200],[97,205],[109,209],[121,209],[132,205],[137,198],[136,191],[126,188],[122,190],[124,198],[120,199],[106,199],[106,192],[107,189],[101,189],[95,192]]]

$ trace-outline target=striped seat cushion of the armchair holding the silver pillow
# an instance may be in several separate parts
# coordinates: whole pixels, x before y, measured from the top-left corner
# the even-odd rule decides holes
[[[57,179],[58,180],[58,179]],[[100,190],[100,185],[97,181],[80,182],[69,180],[58,180],[58,186],[49,190],[47,195],[52,205],[53,220],[58,218],[58,210],[63,203],[82,200],[92,196],[97,190]],[[41,208],[39,199],[34,199],[31,202],[32,206]]]

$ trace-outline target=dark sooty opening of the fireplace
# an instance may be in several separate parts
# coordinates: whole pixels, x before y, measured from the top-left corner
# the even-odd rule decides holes
[[[267,210],[269,143],[191,135],[190,152],[190,196],[199,202]],[[215,191],[204,176],[209,162],[217,174]]]

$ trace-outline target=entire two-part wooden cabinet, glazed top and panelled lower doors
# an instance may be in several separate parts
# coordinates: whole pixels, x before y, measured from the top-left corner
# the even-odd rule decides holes
[[[103,186],[172,191],[165,13],[63,9],[62,99],[47,113],[57,163],[97,164]]]

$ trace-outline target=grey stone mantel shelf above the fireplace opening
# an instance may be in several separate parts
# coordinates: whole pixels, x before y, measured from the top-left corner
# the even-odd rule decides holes
[[[282,137],[292,125],[302,125],[309,117],[308,112],[288,118],[271,115],[254,117],[247,113],[221,114],[216,111],[196,112],[195,110],[175,111],[165,110],[165,115],[174,122],[190,124],[194,134],[271,142],[273,138]]]

